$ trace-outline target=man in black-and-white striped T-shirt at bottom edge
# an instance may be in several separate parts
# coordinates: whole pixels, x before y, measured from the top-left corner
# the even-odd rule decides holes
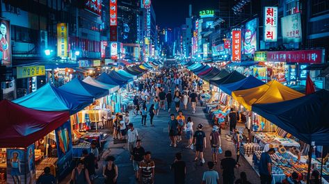
[[[141,184],[153,184],[154,183],[154,161],[151,160],[151,152],[146,151],[144,160],[139,165],[139,182]]]

